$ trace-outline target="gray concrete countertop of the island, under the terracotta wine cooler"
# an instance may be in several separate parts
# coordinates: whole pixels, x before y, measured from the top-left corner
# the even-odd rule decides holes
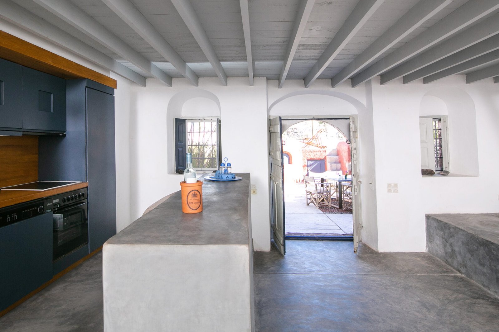
[[[135,220],[106,244],[126,245],[248,245],[250,173],[237,181],[203,183],[203,211],[182,212],[180,190]],[[179,184],[180,189],[180,184]]]

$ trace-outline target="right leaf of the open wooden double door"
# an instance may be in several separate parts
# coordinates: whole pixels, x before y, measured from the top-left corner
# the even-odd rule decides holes
[[[350,153],[352,155],[352,217],[353,217],[353,251],[357,252],[362,229],[362,205],[360,200],[359,148],[357,116],[350,117]]]

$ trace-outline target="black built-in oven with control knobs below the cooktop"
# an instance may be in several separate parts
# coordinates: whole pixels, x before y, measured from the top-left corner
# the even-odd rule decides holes
[[[87,189],[52,196],[53,261],[88,246]]]

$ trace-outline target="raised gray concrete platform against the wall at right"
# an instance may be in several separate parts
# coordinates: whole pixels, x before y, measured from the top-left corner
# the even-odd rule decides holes
[[[427,214],[426,247],[499,296],[499,213]]]

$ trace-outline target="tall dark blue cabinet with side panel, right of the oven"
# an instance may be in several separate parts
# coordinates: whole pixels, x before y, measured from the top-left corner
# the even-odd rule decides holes
[[[116,234],[114,89],[88,79],[66,83],[66,136],[39,137],[38,179],[88,182],[92,252]]]

